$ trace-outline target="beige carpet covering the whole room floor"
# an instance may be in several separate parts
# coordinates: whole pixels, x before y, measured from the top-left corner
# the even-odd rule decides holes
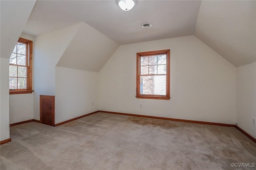
[[[96,113],[58,127],[25,123],[10,134],[12,142],[0,147],[1,170],[220,170],[256,163],[256,143],[234,127]]]

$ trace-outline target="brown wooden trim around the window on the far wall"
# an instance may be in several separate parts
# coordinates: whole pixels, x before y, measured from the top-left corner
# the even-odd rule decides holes
[[[140,94],[140,57],[166,54],[166,95],[150,95],[150,94]],[[137,64],[136,64],[136,98],[140,99],[159,99],[159,100],[170,100],[170,49],[168,50],[158,50],[158,51],[148,51],[137,53]]]

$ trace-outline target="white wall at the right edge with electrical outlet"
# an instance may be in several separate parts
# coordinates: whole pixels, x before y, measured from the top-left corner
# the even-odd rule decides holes
[[[238,126],[256,138],[256,62],[237,68],[237,107]]]

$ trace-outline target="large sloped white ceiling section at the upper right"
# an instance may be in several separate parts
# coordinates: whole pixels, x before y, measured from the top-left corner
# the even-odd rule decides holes
[[[235,66],[256,62],[256,1],[202,1],[194,35]]]

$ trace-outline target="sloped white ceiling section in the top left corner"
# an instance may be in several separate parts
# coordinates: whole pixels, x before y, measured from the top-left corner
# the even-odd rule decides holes
[[[10,58],[36,0],[1,0],[1,58]]]

